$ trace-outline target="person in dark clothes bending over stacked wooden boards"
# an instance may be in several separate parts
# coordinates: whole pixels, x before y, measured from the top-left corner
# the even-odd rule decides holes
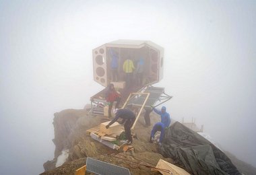
[[[127,109],[115,109],[114,111],[115,113],[115,118],[113,118],[113,120],[111,120],[108,125],[106,125],[106,129],[108,129],[110,127],[110,125],[112,125],[114,122],[116,122],[119,118],[123,118],[123,120],[121,122],[119,122],[120,124],[123,124],[125,122],[125,137],[128,140],[128,144],[131,144],[133,139],[131,137],[131,127],[133,126],[133,122],[135,121],[135,114]]]

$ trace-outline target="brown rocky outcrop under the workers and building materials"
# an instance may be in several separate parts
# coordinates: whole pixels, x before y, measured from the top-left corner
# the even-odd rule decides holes
[[[160,174],[154,172],[151,167],[155,167],[158,160],[166,160],[173,163],[170,158],[163,157],[158,153],[158,146],[154,143],[149,143],[151,127],[144,127],[144,119],[141,116],[135,126],[134,133],[136,133],[137,139],[133,140],[133,147],[135,148],[134,154],[123,153],[123,151],[117,151],[110,149],[95,141],[86,133],[86,130],[100,125],[101,122],[108,120],[104,116],[90,116],[88,109],[83,110],[63,110],[54,114],[53,126],[55,129],[55,157],[53,160],[49,160],[44,163],[44,170],[42,174],[74,174],[75,170],[86,164],[86,157],[94,157],[97,160],[115,164],[129,168],[131,174]],[[159,116],[155,116],[152,112],[150,116],[152,123],[160,120]],[[69,149],[69,156],[66,162],[55,167],[57,163],[57,157],[61,155],[61,151]],[[237,166],[241,172],[249,174],[256,174],[255,169],[248,164],[243,164],[238,161],[234,156],[228,155],[236,166],[236,162],[239,162]],[[248,170],[249,168],[249,170]],[[251,168],[251,169],[250,169]]]

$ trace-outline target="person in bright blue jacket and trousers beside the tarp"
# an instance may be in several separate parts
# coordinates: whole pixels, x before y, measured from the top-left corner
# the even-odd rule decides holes
[[[154,135],[156,134],[156,131],[160,131],[160,139],[159,139],[159,143],[162,143],[162,139],[164,137],[164,130],[166,128],[169,127],[170,125],[170,114],[168,112],[166,112],[166,107],[162,106],[161,111],[157,110],[156,108],[154,108],[152,106],[154,112],[156,112],[156,114],[159,114],[161,116],[161,122],[157,122],[152,131],[151,131],[151,135],[150,135],[150,142],[152,142],[152,139],[154,139]]]

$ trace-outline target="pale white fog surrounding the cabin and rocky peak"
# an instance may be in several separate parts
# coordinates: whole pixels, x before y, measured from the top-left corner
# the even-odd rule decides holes
[[[256,166],[256,1],[0,1],[0,174],[39,174],[53,114],[102,90],[92,49],[119,39],[164,47],[172,118],[196,118]]]

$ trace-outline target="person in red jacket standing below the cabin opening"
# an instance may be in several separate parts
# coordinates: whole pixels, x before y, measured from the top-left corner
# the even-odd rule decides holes
[[[108,118],[111,117],[111,110],[113,108],[113,103],[117,102],[115,105],[115,108],[119,108],[120,103],[120,94],[117,93],[117,91],[114,88],[114,84],[110,83],[108,85],[108,90],[106,90],[106,102],[108,102]]]

